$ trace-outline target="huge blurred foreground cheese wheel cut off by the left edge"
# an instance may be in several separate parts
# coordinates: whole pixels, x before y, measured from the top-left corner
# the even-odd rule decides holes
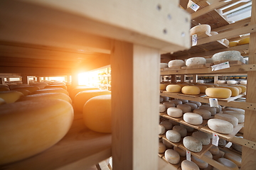
[[[55,145],[70,129],[73,108],[60,99],[0,106],[0,164],[16,162]]]

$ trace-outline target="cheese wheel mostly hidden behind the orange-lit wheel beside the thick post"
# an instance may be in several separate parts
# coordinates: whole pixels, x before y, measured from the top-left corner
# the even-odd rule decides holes
[[[107,90],[87,90],[80,91],[74,98],[74,106],[77,111],[82,112],[82,108],[85,103],[92,97],[111,94],[110,91]]]

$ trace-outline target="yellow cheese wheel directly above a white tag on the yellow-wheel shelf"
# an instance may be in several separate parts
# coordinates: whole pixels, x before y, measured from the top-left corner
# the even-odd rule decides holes
[[[206,95],[210,98],[229,98],[232,95],[232,91],[225,88],[209,87],[206,89]]]

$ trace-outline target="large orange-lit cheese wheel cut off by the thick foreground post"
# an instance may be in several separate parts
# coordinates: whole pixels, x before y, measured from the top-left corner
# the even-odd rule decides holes
[[[90,98],[82,109],[85,125],[95,132],[112,132],[111,95]]]

